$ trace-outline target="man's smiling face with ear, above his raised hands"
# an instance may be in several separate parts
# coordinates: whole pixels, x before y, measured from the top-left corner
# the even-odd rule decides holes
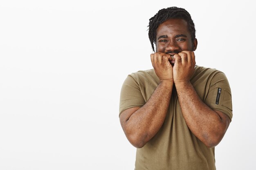
[[[156,52],[174,55],[181,51],[195,51],[197,40],[191,40],[187,22],[183,19],[169,19],[160,24],[156,35]]]

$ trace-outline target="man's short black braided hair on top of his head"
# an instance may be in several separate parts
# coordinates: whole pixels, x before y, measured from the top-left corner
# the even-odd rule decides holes
[[[192,41],[195,40],[195,24],[188,11],[183,8],[168,7],[160,9],[155,16],[149,19],[148,38],[150,40],[153,51],[155,51],[154,43],[156,44],[157,28],[164,21],[171,18],[184,19],[188,23],[188,30],[191,33]]]

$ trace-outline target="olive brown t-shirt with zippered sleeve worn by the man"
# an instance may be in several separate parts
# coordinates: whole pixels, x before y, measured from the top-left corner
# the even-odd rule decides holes
[[[231,90],[224,73],[196,66],[190,82],[207,106],[232,119]],[[154,69],[128,75],[121,88],[119,116],[128,108],[146,104],[158,84]],[[214,148],[205,146],[189,130],[175,88],[164,124],[144,147],[137,148],[135,170],[216,170]]]

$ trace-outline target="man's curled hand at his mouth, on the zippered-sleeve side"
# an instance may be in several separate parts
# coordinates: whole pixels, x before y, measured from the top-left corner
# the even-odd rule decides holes
[[[193,51],[182,51],[174,56],[173,80],[175,86],[190,82],[195,69],[195,54]]]

